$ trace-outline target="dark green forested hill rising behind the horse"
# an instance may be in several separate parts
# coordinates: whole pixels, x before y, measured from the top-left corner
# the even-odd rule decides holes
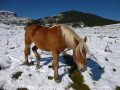
[[[82,13],[79,11],[68,11],[68,12],[62,12],[59,15],[49,16],[45,18],[40,18],[38,20],[34,20],[32,23],[28,23],[27,25],[31,25],[33,23],[40,24],[43,26],[66,24],[66,25],[71,25],[72,27],[86,27],[86,26],[92,27],[92,26],[116,24],[116,23],[120,23],[120,21],[105,19],[100,16],[96,16],[89,13]]]

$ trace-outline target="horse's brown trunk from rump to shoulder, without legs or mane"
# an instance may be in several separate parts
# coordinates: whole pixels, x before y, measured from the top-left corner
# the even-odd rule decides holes
[[[47,51],[61,48],[64,44],[60,26],[48,28],[33,24],[26,30],[26,38],[38,48]]]

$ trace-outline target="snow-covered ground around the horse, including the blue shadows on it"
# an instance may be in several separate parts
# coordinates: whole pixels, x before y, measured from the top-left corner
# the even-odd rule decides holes
[[[87,45],[90,58],[87,60],[87,71],[82,73],[85,83],[91,90],[115,90],[120,86],[120,24],[102,27],[76,28],[80,36],[88,37]],[[0,88],[16,90],[28,88],[29,90],[65,90],[72,83],[69,66],[64,63],[62,54],[59,57],[59,74],[62,82],[57,84],[49,80],[54,71],[48,66],[52,64],[51,52],[39,50],[42,68],[35,65],[25,66],[24,63],[24,26],[0,24]],[[105,52],[105,47],[112,52]],[[72,50],[67,51],[72,55]],[[93,57],[94,56],[94,57]],[[89,56],[88,56],[89,57]],[[35,61],[31,51],[29,62]],[[23,72],[18,80],[12,78],[16,72]],[[72,89],[72,88],[71,88]]]

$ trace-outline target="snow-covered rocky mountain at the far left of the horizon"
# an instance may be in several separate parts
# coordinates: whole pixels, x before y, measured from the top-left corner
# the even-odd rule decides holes
[[[0,10],[0,23],[23,25],[31,21],[31,18],[19,18],[14,12]]]

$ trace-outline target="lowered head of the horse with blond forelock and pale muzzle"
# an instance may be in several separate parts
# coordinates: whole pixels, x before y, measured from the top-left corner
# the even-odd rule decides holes
[[[84,72],[87,70],[86,64],[86,54],[88,52],[88,47],[86,45],[87,37],[84,37],[83,42],[78,43],[73,51],[73,57],[76,60],[79,71]]]

